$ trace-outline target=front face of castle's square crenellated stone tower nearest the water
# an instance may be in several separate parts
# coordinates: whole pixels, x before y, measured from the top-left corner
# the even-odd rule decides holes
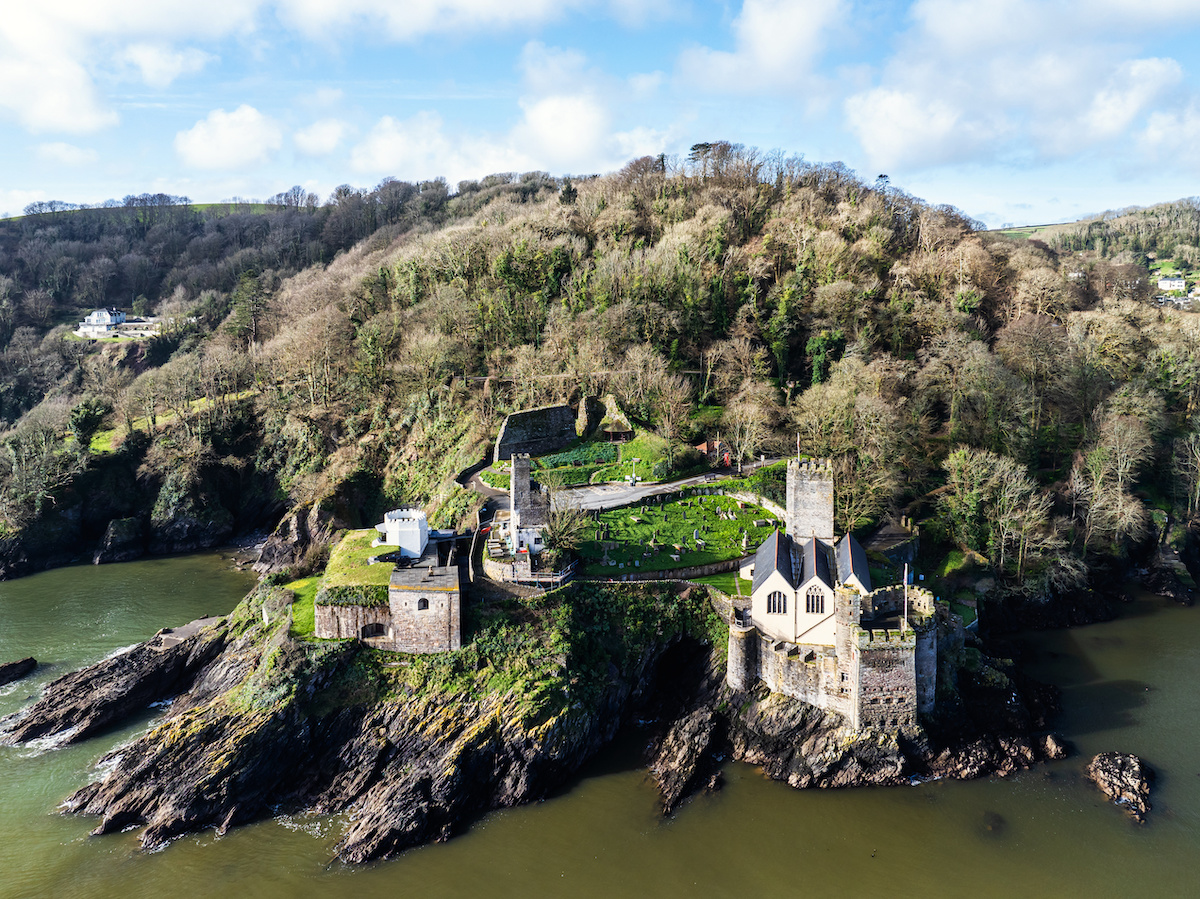
[[[858,631],[858,726],[883,731],[917,724],[917,635]]]

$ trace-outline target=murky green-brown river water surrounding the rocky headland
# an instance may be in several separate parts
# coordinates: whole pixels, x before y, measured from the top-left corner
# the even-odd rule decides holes
[[[251,586],[216,555],[59,569],[0,583],[0,660],[36,655],[0,714],[54,676],[205,613]],[[55,813],[154,713],[68,749],[0,748],[0,897],[1195,897],[1200,895],[1200,609],[1142,595],[1117,622],[1025,639],[1063,688],[1074,757],[1008,779],[800,792],[749,766],[673,817],[636,736],[559,796],[361,869],[331,862],[341,822],[296,817],[140,852]],[[1092,754],[1159,771],[1138,827],[1080,775]]]

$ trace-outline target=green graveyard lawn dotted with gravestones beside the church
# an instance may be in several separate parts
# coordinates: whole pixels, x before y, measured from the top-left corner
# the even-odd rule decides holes
[[[768,525],[755,527],[756,520]],[[757,549],[775,526],[774,516],[756,505],[739,509],[737,501],[728,497],[696,496],[662,505],[602,511],[590,523],[578,552],[584,573],[593,576],[628,569],[666,571],[740,558]],[[701,545],[694,539],[697,531]],[[746,535],[746,550],[742,549],[743,534]],[[608,550],[607,565],[604,564],[601,539],[617,544]]]

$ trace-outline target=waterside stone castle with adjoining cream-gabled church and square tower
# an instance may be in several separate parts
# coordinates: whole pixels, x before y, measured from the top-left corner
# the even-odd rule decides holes
[[[863,547],[851,534],[834,539],[833,497],[828,460],[788,462],[786,533],[752,558],[750,609],[730,628],[726,679],[738,690],[762,681],[856,730],[907,730],[934,711],[934,595],[872,589]]]

